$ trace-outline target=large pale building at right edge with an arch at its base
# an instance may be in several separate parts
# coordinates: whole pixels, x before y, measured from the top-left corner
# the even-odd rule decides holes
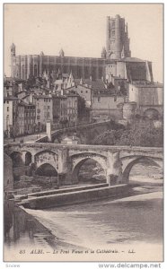
[[[149,82],[129,83],[128,101],[136,102],[136,114],[146,117],[163,116],[163,84]]]

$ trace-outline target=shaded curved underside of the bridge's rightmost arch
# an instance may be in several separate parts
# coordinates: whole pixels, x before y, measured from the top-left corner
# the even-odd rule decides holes
[[[152,165],[160,167],[159,162],[156,161],[156,159],[154,160],[154,158],[146,157],[146,156],[137,157],[134,161],[131,161],[130,163],[128,163],[127,167],[124,169],[124,171],[122,171],[122,178],[124,182],[127,182],[127,183],[129,182],[129,174],[130,174],[131,169],[136,164],[142,163],[142,161],[151,161]]]

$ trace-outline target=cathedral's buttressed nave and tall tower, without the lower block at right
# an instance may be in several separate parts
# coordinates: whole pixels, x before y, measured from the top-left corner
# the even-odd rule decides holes
[[[125,19],[119,15],[116,18],[107,17],[107,41],[106,48],[102,48],[101,57],[73,57],[65,56],[63,49],[59,56],[16,55],[16,47],[11,46],[11,75],[13,78],[26,80],[30,76],[42,77],[47,74],[56,74],[59,70],[62,74],[74,75],[74,78],[92,80],[105,77],[105,65],[109,59],[120,59],[131,56],[129,39]]]

